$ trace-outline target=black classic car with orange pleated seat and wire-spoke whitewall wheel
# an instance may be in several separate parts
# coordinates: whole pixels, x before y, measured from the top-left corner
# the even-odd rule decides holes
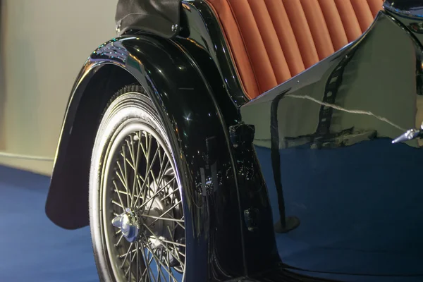
[[[423,281],[421,0],[120,0],[116,30],[46,204],[102,281]]]

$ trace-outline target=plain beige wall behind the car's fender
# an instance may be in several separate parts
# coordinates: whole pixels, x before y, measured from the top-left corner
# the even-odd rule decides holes
[[[1,0],[0,152],[54,157],[82,64],[114,37],[117,0]],[[52,161],[0,157],[49,175]]]

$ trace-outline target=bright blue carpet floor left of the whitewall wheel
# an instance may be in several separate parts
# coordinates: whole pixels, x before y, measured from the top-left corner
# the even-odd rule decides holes
[[[0,166],[0,281],[99,281],[90,228],[51,223],[48,188],[46,176]]]

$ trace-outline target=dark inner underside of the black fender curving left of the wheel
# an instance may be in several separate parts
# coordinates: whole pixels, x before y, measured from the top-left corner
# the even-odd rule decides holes
[[[89,224],[90,159],[104,107],[115,92],[137,82],[114,63],[92,66],[89,71],[90,75],[83,72],[78,78],[66,107],[46,202],[49,219],[66,229]]]

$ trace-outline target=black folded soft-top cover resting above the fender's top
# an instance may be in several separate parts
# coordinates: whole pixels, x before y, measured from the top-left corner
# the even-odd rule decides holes
[[[128,30],[146,30],[171,38],[180,27],[181,0],[118,0],[118,35]]]

